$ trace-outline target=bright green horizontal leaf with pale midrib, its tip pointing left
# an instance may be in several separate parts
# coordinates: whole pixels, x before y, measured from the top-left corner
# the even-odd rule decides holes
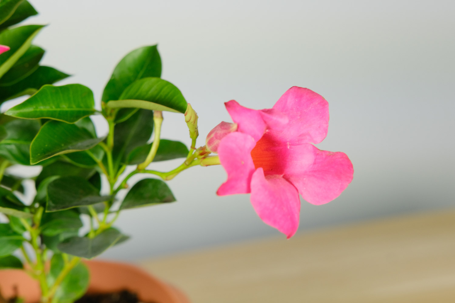
[[[81,84],[44,85],[23,103],[8,109],[5,114],[25,119],[53,119],[75,123],[95,113],[91,90]]]

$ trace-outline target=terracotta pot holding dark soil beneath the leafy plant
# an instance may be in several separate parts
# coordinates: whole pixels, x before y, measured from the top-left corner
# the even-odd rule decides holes
[[[109,293],[126,289],[137,293],[142,302],[189,303],[177,288],[135,266],[106,261],[86,261],[86,265],[91,274],[87,293]],[[20,297],[25,298],[25,303],[40,300],[38,283],[28,274],[21,270],[0,270],[0,287],[5,298],[14,295],[14,286],[17,286]]]

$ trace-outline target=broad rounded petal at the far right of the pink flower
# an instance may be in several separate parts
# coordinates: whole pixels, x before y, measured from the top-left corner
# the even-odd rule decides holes
[[[336,197],[351,183],[354,168],[348,156],[342,152],[319,150],[311,144],[313,164],[298,172],[290,168],[283,178],[291,182],[311,204],[325,204]]]

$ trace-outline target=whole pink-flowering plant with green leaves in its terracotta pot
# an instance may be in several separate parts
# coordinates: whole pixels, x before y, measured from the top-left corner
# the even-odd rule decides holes
[[[221,164],[227,181],[217,194],[251,193],[258,215],[288,238],[298,228],[299,195],[324,204],[351,182],[353,168],[344,153],[310,144],[327,134],[328,104],[319,94],[292,87],[272,109],[262,110],[231,100],[226,108],[233,123],[221,122],[197,147],[196,111],[160,78],[156,45],[133,50],[116,65],[96,110],[91,89],[54,86],[68,75],[39,65],[44,50],[31,43],[43,26],[14,26],[35,14],[26,0],[0,1],[0,103],[30,95],[0,116],[0,213],[6,218],[0,224],[0,269],[15,269],[0,271],[0,303],[13,302],[11,296],[17,302],[72,303],[87,290],[122,289],[142,302],[187,302],[137,268],[86,260],[128,239],[114,227],[122,211],[175,201],[165,181],[192,166]],[[161,138],[166,112],[182,114],[189,148]],[[96,132],[92,115],[106,119],[106,135]],[[182,164],[167,172],[149,169],[177,158]],[[36,195],[28,204],[21,199],[23,179],[9,173],[17,164],[42,167],[30,178]],[[139,173],[149,176],[128,184]],[[127,194],[117,201],[120,191]],[[90,225],[85,234],[81,217]],[[144,283],[145,290],[139,289]]]

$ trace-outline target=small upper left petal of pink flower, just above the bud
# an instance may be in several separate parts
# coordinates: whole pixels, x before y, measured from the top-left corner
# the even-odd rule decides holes
[[[235,100],[226,102],[224,105],[234,123],[238,124],[237,130],[239,132],[249,134],[254,138],[254,141],[261,139],[266,124],[259,110],[243,107]]]

